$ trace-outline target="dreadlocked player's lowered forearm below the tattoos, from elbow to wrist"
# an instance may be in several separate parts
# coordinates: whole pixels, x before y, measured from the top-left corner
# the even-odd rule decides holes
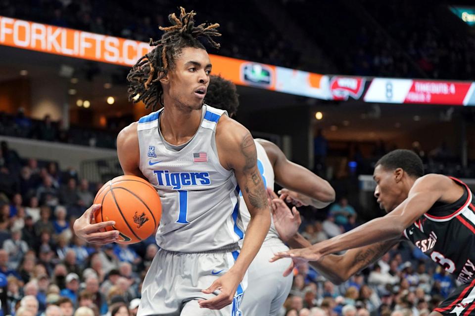
[[[233,271],[244,276],[247,268],[261,248],[270,226],[271,214],[266,204],[265,208],[259,209],[255,215],[251,216],[246,234],[244,235],[241,251],[232,268]]]

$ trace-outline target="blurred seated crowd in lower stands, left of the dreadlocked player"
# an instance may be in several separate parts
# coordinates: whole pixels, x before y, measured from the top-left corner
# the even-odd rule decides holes
[[[132,316],[158,247],[85,244],[72,232],[101,184],[0,146],[1,315]],[[57,308],[56,308],[57,307]]]

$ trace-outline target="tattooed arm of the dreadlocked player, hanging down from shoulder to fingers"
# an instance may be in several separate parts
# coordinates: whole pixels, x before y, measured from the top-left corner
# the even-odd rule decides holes
[[[228,170],[234,170],[251,219],[233,267],[203,290],[204,293],[212,293],[221,289],[215,298],[199,302],[201,307],[209,309],[221,309],[233,301],[238,284],[259,251],[271,224],[266,190],[257,168],[256,146],[249,131],[235,120],[222,116],[216,128],[216,146],[221,164]]]

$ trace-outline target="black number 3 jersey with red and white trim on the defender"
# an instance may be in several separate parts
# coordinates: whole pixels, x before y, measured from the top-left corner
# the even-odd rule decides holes
[[[433,261],[466,283],[475,276],[475,207],[469,187],[450,177],[463,187],[464,194],[451,204],[440,202],[404,231]]]

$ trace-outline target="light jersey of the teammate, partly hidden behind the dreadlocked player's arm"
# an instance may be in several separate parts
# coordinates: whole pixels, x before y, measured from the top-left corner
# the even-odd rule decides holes
[[[272,168],[271,161],[269,157],[267,157],[266,151],[261,144],[259,144],[256,140],[254,140],[256,144],[257,150],[257,168],[261,173],[262,181],[264,182],[264,186],[266,188],[270,188],[274,190],[274,169]],[[251,219],[251,215],[249,214],[249,210],[247,209],[246,203],[244,202],[244,198],[242,194],[240,195],[240,205],[239,205],[239,212],[241,213],[242,223],[244,224],[244,232],[247,230],[247,225],[249,225],[249,220]],[[269,232],[267,233],[266,238],[264,241],[270,238],[279,238],[279,234],[277,233],[276,227],[274,225],[274,221],[272,221],[271,216],[271,227]],[[242,240],[241,240],[242,243]],[[242,244],[241,244],[242,245]]]

